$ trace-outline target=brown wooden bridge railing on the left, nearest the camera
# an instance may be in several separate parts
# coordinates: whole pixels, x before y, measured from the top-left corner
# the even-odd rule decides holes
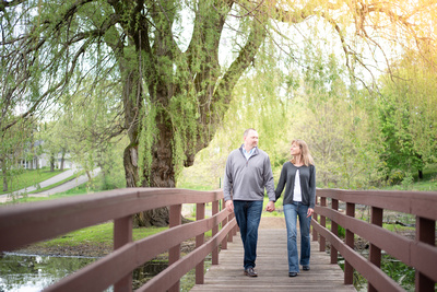
[[[235,218],[220,211],[223,191],[176,188],[129,188],[87,196],[22,203],[0,208],[0,250],[49,240],[64,233],[114,221],[114,252],[61,279],[45,291],[132,290],[132,271],[168,250],[168,267],[138,291],[179,291],[179,279],[196,267],[196,283],[203,283],[203,261],[212,254],[218,264],[218,246],[227,248],[237,232]],[[212,217],[205,219],[205,203]],[[181,206],[196,203],[197,220],[181,224]],[[133,214],[169,207],[170,227],[132,241]],[[204,233],[212,237],[204,242]],[[180,258],[180,244],[196,237],[196,249]]]

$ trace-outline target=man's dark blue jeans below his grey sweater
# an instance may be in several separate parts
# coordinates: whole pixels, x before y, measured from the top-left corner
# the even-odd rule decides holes
[[[245,247],[245,269],[255,268],[257,259],[258,226],[263,201],[234,201],[234,213]]]

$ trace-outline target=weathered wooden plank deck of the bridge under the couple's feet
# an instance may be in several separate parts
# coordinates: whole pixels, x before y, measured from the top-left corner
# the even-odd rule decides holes
[[[331,265],[329,255],[319,252],[318,243],[312,241],[311,270],[300,271],[297,277],[290,278],[285,229],[260,227],[257,278],[244,276],[243,254],[237,233],[234,241],[228,243],[228,248],[220,253],[220,265],[209,268],[204,284],[197,284],[190,291],[356,291],[353,285],[343,284],[342,269],[336,264]]]

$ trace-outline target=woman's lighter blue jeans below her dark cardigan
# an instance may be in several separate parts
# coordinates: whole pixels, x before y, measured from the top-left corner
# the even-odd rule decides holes
[[[297,254],[297,217],[299,217],[300,226],[300,265],[309,266],[309,255],[311,253],[309,226],[311,217],[307,218],[308,206],[302,202],[284,205],[285,223],[287,227],[287,252],[288,252],[288,272],[299,272]]]

